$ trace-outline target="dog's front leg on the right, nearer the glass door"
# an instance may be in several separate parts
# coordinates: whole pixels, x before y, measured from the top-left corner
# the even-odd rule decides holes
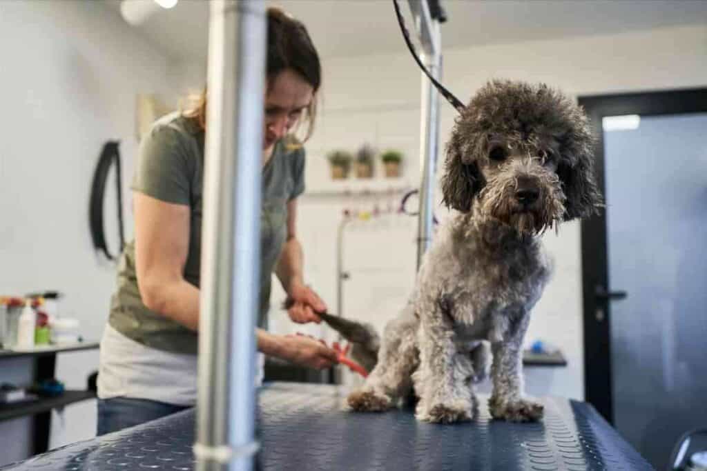
[[[513,316],[501,340],[493,340],[491,378],[493,393],[489,412],[495,419],[510,422],[530,422],[542,418],[542,404],[522,397],[522,340],[530,315],[522,312]]]

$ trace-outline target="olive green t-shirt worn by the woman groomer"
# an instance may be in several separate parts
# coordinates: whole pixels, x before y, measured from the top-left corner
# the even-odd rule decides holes
[[[287,203],[305,189],[305,153],[296,139],[275,144],[262,169],[260,213],[260,299],[258,326],[266,327],[271,273],[286,239]],[[199,287],[201,216],[204,181],[204,131],[179,113],[156,121],[140,143],[132,184],[160,201],[189,206],[189,251],[184,278]],[[197,333],[147,309],[141,300],[135,270],[135,243],[126,244],[119,261],[117,287],[108,323],[118,332],[148,347],[175,353],[197,353]]]

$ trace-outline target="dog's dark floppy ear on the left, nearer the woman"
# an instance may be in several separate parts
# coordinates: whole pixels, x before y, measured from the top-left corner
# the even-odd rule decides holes
[[[452,138],[447,146],[445,174],[442,177],[443,202],[462,213],[472,209],[474,196],[484,186],[484,177],[479,172],[476,160],[464,158],[461,145]]]

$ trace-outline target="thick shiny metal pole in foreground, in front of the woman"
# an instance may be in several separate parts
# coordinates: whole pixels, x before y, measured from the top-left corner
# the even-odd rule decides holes
[[[212,0],[199,319],[197,470],[251,470],[266,16]]]

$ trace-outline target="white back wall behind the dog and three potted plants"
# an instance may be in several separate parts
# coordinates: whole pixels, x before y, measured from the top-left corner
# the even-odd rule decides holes
[[[403,49],[401,47],[401,49]],[[545,81],[571,95],[657,90],[707,84],[707,26],[656,29],[596,37],[568,37],[516,44],[447,50],[444,82],[466,101],[489,78]],[[327,184],[327,150],[355,148],[363,141],[404,148],[413,162],[419,152],[419,69],[407,52],[397,55],[329,59],[324,62],[324,107],[320,126],[308,145],[308,188]],[[449,134],[455,112],[441,102],[440,138]],[[408,177],[416,181],[415,165]],[[385,201],[385,198],[383,199]],[[440,201],[439,194],[436,201]],[[375,201],[359,203],[371,208]],[[356,206],[351,198],[305,196],[300,233],[307,274],[331,309],[335,307],[335,228],[341,209]],[[438,211],[443,212],[441,208]],[[414,221],[394,219],[373,225],[358,223],[346,242],[344,314],[382,326],[399,309],[413,282]],[[365,227],[369,227],[366,229]],[[527,340],[542,338],[561,348],[568,359],[562,369],[527,369],[526,388],[535,395],[581,399],[583,335],[580,227],[563,225],[559,236],[544,237],[556,272],[534,310]],[[284,296],[276,292],[276,300]],[[276,313],[277,328],[288,325]],[[317,333],[316,328],[309,330]],[[323,331],[322,331],[323,332]]]

